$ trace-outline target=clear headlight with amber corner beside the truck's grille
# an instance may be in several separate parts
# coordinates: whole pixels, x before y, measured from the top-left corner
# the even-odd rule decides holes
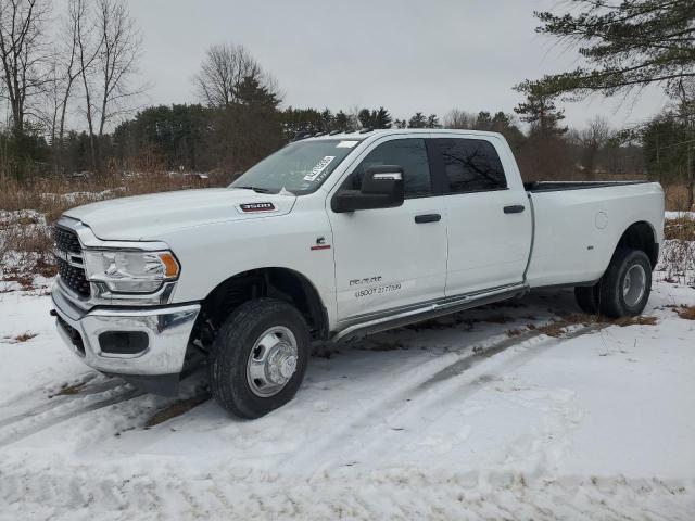
[[[83,254],[87,279],[116,293],[153,293],[179,274],[172,252],[85,250]]]

